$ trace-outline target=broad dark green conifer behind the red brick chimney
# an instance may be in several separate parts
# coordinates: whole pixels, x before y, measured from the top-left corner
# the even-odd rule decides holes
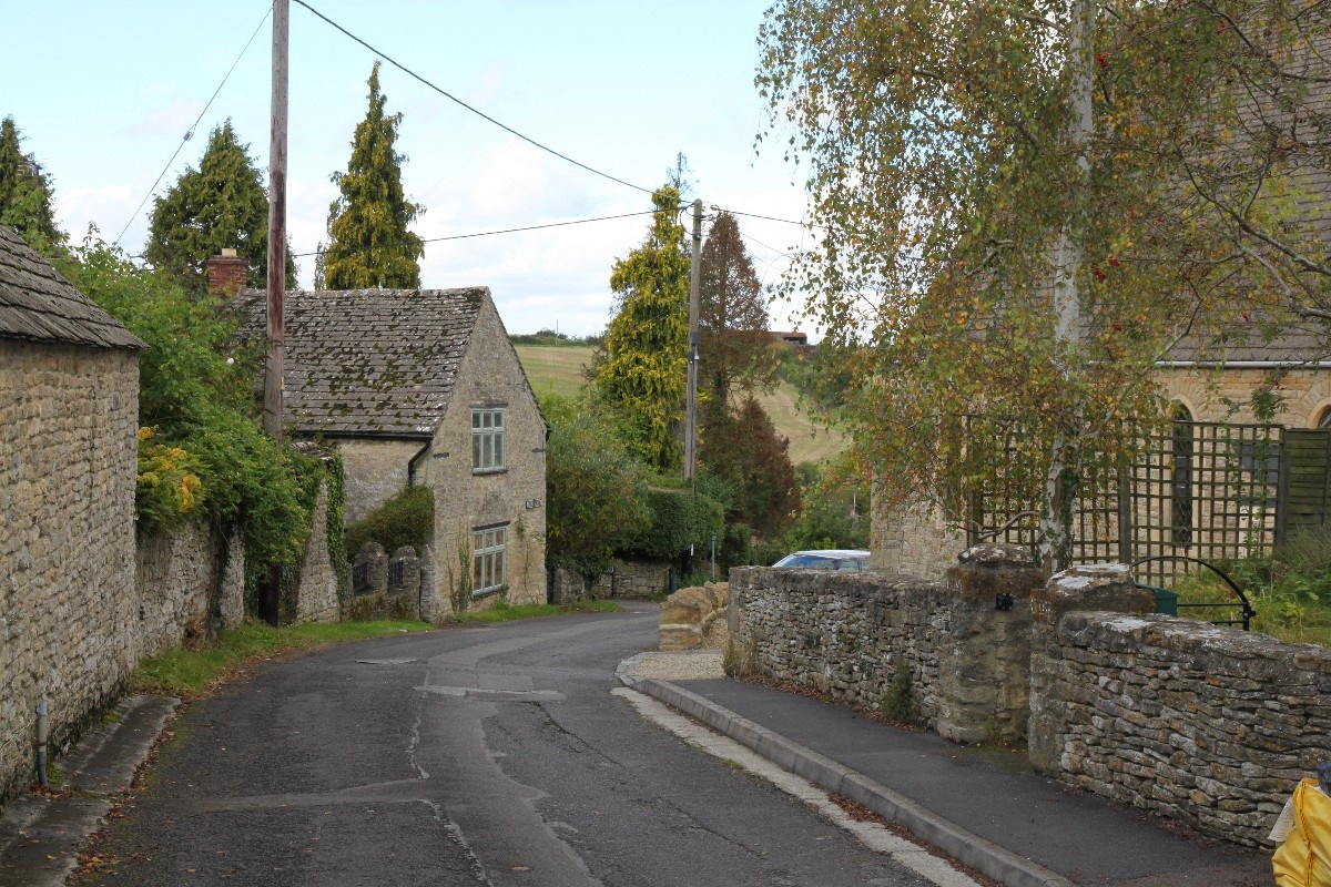
[[[153,201],[146,258],[190,293],[208,290],[208,259],[234,249],[249,265],[249,285],[268,277],[268,191],[232,121],[213,129],[198,169],[186,166]],[[286,254],[286,286],[295,286],[295,259]]]

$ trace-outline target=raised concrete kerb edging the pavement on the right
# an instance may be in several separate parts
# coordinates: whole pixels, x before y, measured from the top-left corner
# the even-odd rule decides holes
[[[992,840],[944,819],[880,782],[817,751],[805,749],[761,725],[741,718],[711,699],[668,681],[639,678],[634,669],[639,658],[640,656],[626,660],[616,669],[616,677],[626,686],[701,721],[708,727],[748,746],[783,770],[808,779],[824,791],[843,795],[868,807],[986,878],[993,878],[1005,887],[1075,887],[1071,880],[1062,875],[1018,856]]]

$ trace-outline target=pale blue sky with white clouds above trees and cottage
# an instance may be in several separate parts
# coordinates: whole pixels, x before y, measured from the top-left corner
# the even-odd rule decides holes
[[[767,0],[310,0],[311,5],[426,80],[588,166],[643,188],[666,181],[684,152],[696,195],[725,209],[800,219],[797,170],[755,154],[767,108],[753,86]],[[113,239],[180,145],[250,35],[258,36],[161,194],[198,165],[208,132],[232,118],[266,170],[272,19],[262,0],[125,4],[45,0],[5,11],[5,86],[13,116],[55,180],[56,213],[80,238],[96,223]],[[287,229],[297,253],[323,235],[365,116],[374,53],[291,3]],[[260,21],[264,20],[262,27]],[[423,238],[650,209],[647,194],[606,181],[515,138],[385,63],[389,110],[402,112],[403,184],[427,211]],[[784,138],[781,140],[784,141]],[[142,249],[150,202],[121,241]],[[740,218],[760,277],[801,229]],[[429,287],[490,286],[511,332],[599,332],[610,270],[642,241],[647,217],[426,246]],[[313,259],[301,258],[309,286]],[[773,327],[796,326],[773,309]]]

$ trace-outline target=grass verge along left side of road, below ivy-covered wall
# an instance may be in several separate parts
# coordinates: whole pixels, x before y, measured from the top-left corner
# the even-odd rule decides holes
[[[426,622],[338,622],[337,625],[293,625],[273,628],[262,622],[246,622],[222,632],[212,641],[200,641],[188,648],[168,650],[138,664],[130,685],[136,693],[204,696],[246,665],[260,660],[309,650],[338,641],[363,637],[385,637],[407,632],[427,632]]]

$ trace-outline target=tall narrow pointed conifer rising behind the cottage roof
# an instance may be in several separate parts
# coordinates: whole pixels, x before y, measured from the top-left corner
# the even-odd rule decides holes
[[[402,113],[383,112],[379,61],[370,72],[370,108],[355,128],[345,173],[333,173],[341,194],[329,206],[329,245],[321,247],[317,287],[415,289],[421,286],[425,245],[407,230],[425,211],[402,191],[405,154],[394,150]]]

